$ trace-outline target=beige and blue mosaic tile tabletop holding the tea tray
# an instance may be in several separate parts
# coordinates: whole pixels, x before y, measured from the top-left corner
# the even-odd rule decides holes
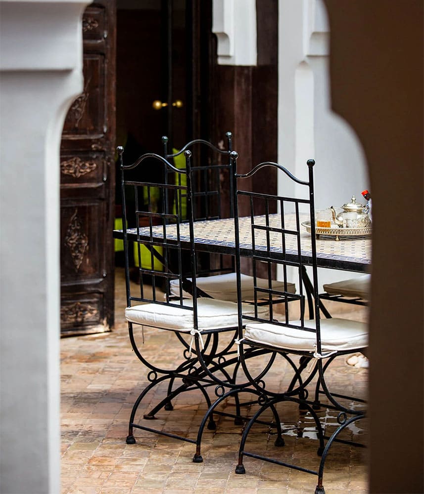
[[[301,218],[301,222],[308,220],[307,216]],[[265,225],[265,216],[255,217],[255,224]],[[240,245],[250,249],[252,247],[252,235],[250,229],[250,217],[239,218]],[[270,225],[281,228],[280,215],[270,215]],[[284,216],[284,228],[295,230],[295,216],[287,214]],[[221,219],[209,221],[197,221],[194,224],[195,243],[200,250],[219,252],[220,249],[231,250],[235,248],[234,219]],[[136,229],[129,229],[128,233],[136,234]],[[162,226],[152,228],[154,238],[163,238]],[[149,237],[148,227],[140,228],[141,237]],[[177,225],[168,225],[166,228],[168,240],[177,239]],[[188,223],[180,224],[180,238],[182,242],[189,242]],[[259,250],[266,249],[265,233],[256,231],[255,245]],[[285,235],[285,246],[288,254],[297,254],[297,237]],[[281,233],[270,233],[270,245],[273,252],[282,252]],[[350,271],[367,271],[371,264],[371,237],[340,237],[335,241],[334,237],[320,235],[316,240],[318,264],[322,267],[345,269]],[[311,257],[311,235],[306,228],[300,227],[300,250],[302,256]]]

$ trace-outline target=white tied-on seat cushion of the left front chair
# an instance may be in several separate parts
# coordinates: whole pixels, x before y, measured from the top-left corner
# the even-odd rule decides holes
[[[185,300],[185,304],[192,307],[192,300]],[[242,304],[243,314],[254,315],[254,306]],[[263,317],[269,314],[268,307],[259,307]],[[155,303],[135,305],[125,309],[125,317],[131,323],[154,328],[172,329],[188,332],[194,328],[193,311],[171,305]],[[197,299],[198,329],[233,328],[238,324],[237,304],[214,298]]]

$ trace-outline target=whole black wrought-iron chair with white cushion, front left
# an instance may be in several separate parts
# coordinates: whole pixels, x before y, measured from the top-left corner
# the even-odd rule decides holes
[[[127,307],[125,316],[128,321],[128,329],[131,345],[136,356],[148,370],[147,380],[149,384],[137,398],[130,416],[127,444],[136,442],[134,428],[142,429],[164,436],[195,443],[187,437],[148,427],[136,420],[136,414],[145,395],[161,383],[168,383],[168,392],[153,409],[143,415],[144,420],[155,418],[155,413],[162,409],[172,410],[171,400],[183,392],[200,391],[208,407],[211,400],[207,389],[216,382],[210,378],[215,372],[219,372],[222,379],[231,380],[232,376],[226,371],[228,362],[222,357],[227,354],[228,347],[218,349],[219,335],[223,332],[237,331],[238,307],[234,302],[216,300],[203,293],[196,285],[197,251],[193,242],[193,211],[191,206],[191,174],[189,169],[190,152],[186,151],[187,171],[178,170],[163,157],[155,154],[142,155],[135,163],[124,165],[123,148],[118,147],[121,187],[123,198],[123,235],[125,252],[125,278]],[[175,173],[185,173],[187,183],[185,185],[169,183],[151,183],[143,180],[135,180],[134,171],[141,163],[148,160],[155,166],[170,168]],[[129,180],[127,172],[131,171]],[[153,193],[154,191],[154,193]],[[133,210],[129,210],[126,198],[132,196]],[[182,221],[182,198],[187,198],[186,215],[190,229],[189,245],[182,242],[179,226]],[[152,200],[154,198],[154,201]],[[159,201],[157,200],[159,198]],[[172,200],[171,200],[172,198]],[[126,225],[129,216],[134,218],[137,226],[129,230]],[[171,239],[167,236],[167,227],[174,225],[176,235]],[[136,242],[139,256],[139,285],[134,289],[130,283],[129,253],[132,243]],[[147,249],[150,254],[150,264],[145,266],[141,262],[141,249]],[[183,255],[188,249],[190,256],[190,280],[185,278],[183,271]],[[174,262],[171,264],[170,259]],[[176,262],[175,262],[176,260]],[[177,269],[175,269],[177,268]],[[148,283],[144,280],[148,277]],[[164,283],[165,280],[165,283]],[[169,281],[177,280],[179,283],[178,295],[171,294]],[[161,291],[165,289],[165,295]],[[183,296],[183,290],[187,291],[191,298]],[[247,314],[253,314],[253,306],[242,305]],[[261,309],[265,312],[267,309]],[[155,365],[149,361],[143,352],[143,328],[149,327],[151,331],[169,330],[177,335],[176,344],[181,347],[181,363],[170,369]],[[188,338],[185,337],[188,335]],[[142,338],[141,338],[142,336]],[[190,341],[191,338],[191,341]],[[194,338],[196,345],[194,346]],[[142,339],[142,341],[141,341]],[[234,336],[231,345],[234,344]],[[200,343],[199,343],[200,342]],[[202,357],[202,366],[198,365],[199,355]],[[207,372],[205,372],[205,368]],[[176,382],[181,382],[175,385]],[[213,419],[208,427],[213,429]]]

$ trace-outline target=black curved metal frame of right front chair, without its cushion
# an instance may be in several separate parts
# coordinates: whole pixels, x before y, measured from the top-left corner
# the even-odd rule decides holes
[[[282,265],[283,268],[283,279],[286,279],[286,268],[287,266],[294,266],[299,273],[299,286],[302,286],[301,280],[302,280],[302,273],[304,273],[304,265],[302,263],[302,255],[301,255],[301,249],[300,249],[300,219],[299,219],[299,206],[301,204],[306,205],[309,209],[309,214],[311,218],[311,230],[313,231],[315,229],[315,211],[314,211],[314,181],[313,181],[313,166],[315,165],[314,160],[308,160],[307,162],[308,165],[308,170],[309,170],[309,179],[307,181],[300,180],[293,176],[286,168],[284,168],[282,165],[279,165],[277,163],[272,163],[272,162],[264,162],[261,163],[257,166],[255,166],[249,173],[246,174],[238,174],[236,171],[236,161],[234,165],[234,174],[233,174],[233,179],[234,179],[234,184],[233,184],[233,191],[234,191],[234,207],[235,207],[235,232],[236,232],[236,272],[239,272],[240,269],[240,257],[241,257],[241,252],[243,251],[245,253],[245,249],[240,248],[240,240],[239,240],[239,232],[238,232],[238,215],[237,215],[237,210],[238,210],[238,201],[240,198],[244,196],[244,198],[247,198],[249,204],[250,204],[250,211],[251,211],[251,236],[252,236],[252,250],[251,252],[248,252],[248,256],[251,257],[253,260],[253,269],[254,269],[254,276],[255,276],[255,262],[266,262],[268,265],[271,265],[272,263],[279,263]],[[259,170],[272,166],[277,168],[278,170],[282,171],[285,175],[287,175],[292,181],[295,183],[305,186],[307,190],[307,198],[306,199],[298,199],[298,198],[293,198],[293,197],[283,197],[283,196],[277,196],[277,195],[271,195],[271,194],[256,194],[252,193],[250,191],[245,191],[243,190],[240,186],[239,183],[242,181],[244,178],[248,178],[253,176],[255,173],[257,173]],[[255,203],[258,201],[263,201],[265,203],[265,220],[262,221],[262,223],[258,224],[255,222]],[[281,227],[276,227],[273,226],[270,223],[269,220],[269,204],[270,202],[277,202],[280,212],[280,217],[281,217]],[[295,210],[295,217],[296,217],[296,226],[295,228],[287,228],[284,225],[284,208],[286,207],[286,204],[289,203],[292,207],[294,207]],[[305,206],[305,207],[306,207]],[[258,232],[261,232],[265,237],[266,237],[266,243],[267,247],[256,247],[255,246],[255,234]],[[283,256],[276,256],[273,254],[273,246],[271,245],[270,242],[270,237],[272,234],[278,234],[281,238],[281,247],[283,251]],[[287,260],[285,257],[285,236],[286,235],[295,235],[297,237],[297,261],[293,260],[293,257],[290,257],[290,260]],[[275,246],[274,246],[275,247]],[[273,305],[271,303],[272,297],[275,296],[280,296],[282,298],[287,297],[287,293],[284,291],[278,291],[272,289],[271,282],[269,284],[268,289],[260,289],[257,288],[257,292],[265,292],[267,296],[269,297],[269,308],[270,308],[270,316],[269,318],[261,318],[257,315],[255,317],[248,317],[244,316],[244,319],[248,320],[251,319],[254,322],[266,322],[266,323],[272,323],[273,325],[281,325],[284,327],[289,327],[293,329],[302,329],[306,331],[312,331],[314,332],[316,336],[316,352],[306,352],[306,351],[294,351],[291,349],[278,349],[274,346],[267,346],[263,344],[258,344],[254,343],[252,341],[245,341],[243,344],[243,321],[241,317],[241,305],[240,302],[238,303],[238,314],[239,314],[239,325],[238,325],[238,340],[239,340],[239,351],[240,351],[240,362],[241,362],[241,367],[244,371],[244,374],[247,376],[248,381],[250,382],[250,388],[254,389],[255,392],[257,393],[258,396],[260,396],[260,400],[258,400],[258,404],[260,405],[259,410],[251,417],[251,419],[247,422],[247,425],[243,431],[240,446],[239,446],[239,459],[238,459],[238,464],[236,466],[236,473],[238,474],[243,474],[245,473],[245,468],[243,465],[243,457],[244,456],[250,456],[253,458],[258,458],[262,459],[264,461],[269,461],[273,462],[282,466],[287,466],[293,469],[301,470],[313,475],[316,475],[318,477],[318,483],[317,487],[315,490],[315,494],[324,494],[324,487],[323,487],[323,473],[324,473],[324,466],[325,466],[325,461],[327,458],[327,455],[329,453],[330,447],[334,442],[343,442],[343,443],[348,443],[354,446],[363,446],[360,445],[356,442],[353,441],[344,441],[340,440],[338,438],[340,432],[346,428],[349,424],[352,422],[359,420],[365,416],[365,412],[363,410],[359,410],[356,408],[356,406],[344,406],[340,400],[341,399],[347,399],[347,400],[356,400],[357,403],[364,403],[364,400],[358,400],[354,397],[347,397],[341,394],[335,394],[331,393],[329,386],[326,382],[325,379],[325,371],[328,369],[330,363],[336,358],[337,356],[345,355],[348,353],[352,353],[352,349],[348,351],[337,351],[334,352],[333,354],[327,354],[323,355],[323,350],[321,346],[321,327],[320,327],[320,310],[323,310],[323,304],[320,301],[320,296],[319,296],[319,291],[318,291],[318,273],[317,273],[317,252],[316,252],[316,243],[315,243],[315,237],[311,236],[311,250],[312,250],[312,272],[313,272],[313,280],[308,287],[308,291],[311,292],[312,298],[313,298],[313,310],[314,310],[314,315],[315,315],[315,328],[310,329],[307,328],[304,324],[304,319],[303,319],[303,311],[301,312],[300,316],[300,326],[298,325],[293,325],[293,323],[289,322],[287,311],[285,313],[285,320],[282,322],[277,321],[274,316],[273,316]],[[271,270],[269,269],[269,272]],[[303,275],[304,278],[304,275]],[[304,281],[304,279],[303,279]],[[240,288],[240,283],[238,280],[238,293],[240,294],[241,288]],[[255,303],[257,303],[257,297],[255,295]],[[300,303],[302,304],[302,299],[300,299]],[[324,312],[325,314],[325,312]],[[325,314],[327,315],[327,314]],[[270,352],[277,352],[280,355],[284,356],[287,358],[287,361],[290,363],[291,368],[294,372],[293,378],[288,386],[288,388],[284,391],[272,391],[269,387],[267,387],[266,382],[262,377],[266,379],[266,373],[262,374],[261,378],[258,379],[256,375],[252,375],[252,373],[249,370],[249,363],[248,359],[245,359],[245,353],[246,353],[246,348],[262,348],[264,350],[268,350]],[[362,348],[355,349],[354,351],[361,351]],[[315,355],[314,355],[315,353]],[[291,360],[288,355],[293,355],[293,356],[300,356],[300,361],[299,365],[294,364],[293,360]],[[316,358],[317,357],[317,358]],[[323,364],[323,359],[327,358],[327,362]],[[307,374],[305,377],[302,377],[302,371],[306,368],[306,366],[311,362],[315,360],[315,363],[313,365],[313,369]],[[309,391],[307,389],[307,386],[312,384],[314,378],[317,378],[316,384],[315,384],[315,393],[313,400],[308,399],[308,394]],[[249,389],[247,386],[245,388],[246,390]],[[235,392],[234,390],[230,391],[229,393]],[[321,407],[321,402],[320,402],[320,394],[325,395],[327,400],[330,402],[329,405],[326,404],[327,408],[330,408],[334,411],[338,412],[338,423],[339,427],[336,429],[336,431],[331,434],[330,437],[324,436],[324,429],[321,425],[320,419],[316,413],[316,410]],[[275,418],[275,421],[277,422],[277,446],[282,446],[283,445],[283,440],[281,437],[281,428],[278,427],[278,423],[280,422],[280,418],[277,412],[277,405],[278,403],[281,402],[294,402],[297,403],[300,409],[306,410],[310,412],[311,416],[313,417],[315,424],[316,424],[316,431],[319,439],[319,448],[318,448],[318,455],[321,456],[320,460],[320,465],[318,470],[308,470],[303,467],[297,466],[295,464],[291,463],[286,463],[283,461],[279,461],[278,459],[269,457],[269,456],[264,456],[264,455],[259,455],[255,453],[251,453],[245,450],[245,445],[247,441],[247,437],[249,435],[249,431],[251,430],[251,427],[253,426],[254,423],[259,422],[260,417],[263,412],[265,412],[268,409],[271,409],[273,416]],[[205,420],[207,420],[208,416],[205,416]],[[324,442],[324,440],[327,440],[327,443]]]

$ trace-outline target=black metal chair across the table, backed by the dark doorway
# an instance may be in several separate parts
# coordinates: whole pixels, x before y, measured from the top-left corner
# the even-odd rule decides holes
[[[174,160],[174,165],[179,169],[184,169],[185,167],[185,162],[183,161],[185,151],[191,151],[190,169],[194,221],[234,217],[232,180],[230,176],[230,155],[233,150],[232,132],[226,132],[225,137],[226,146],[217,147],[209,141],[194,139],[180,150],[172,149],[172,153],[169,153],[168,150],[168,137],[162,137],[165,159],[168,161]],[[179,185],[186,183],[185,174],[175,173],[170,168],[166,170],[165,179],[168,183]],[[182,195],[183,221],[187,221],[187,216],[184,214],[186,201],[186,196]],[[200,254],[198,259],[202,264],[202,268],[198,271],[197,287],[213,298],[236,302],[237,283],[234,257],[219,254]],[[256,283],[265,286],[268,281],[259,279]],[[274,284],[282,288],[281,283],[274,281]],[[178,295],[180,289],[178,280],[171,280],[170,289],[171,293]],[[287,290],[295,293],[296,287],[293,283],[288,283]],[[190,297],[190,294],[184,292],[184,296]],[[243,300],[251,300],[253,298],[252,276],[241,275],[241,296]]]

